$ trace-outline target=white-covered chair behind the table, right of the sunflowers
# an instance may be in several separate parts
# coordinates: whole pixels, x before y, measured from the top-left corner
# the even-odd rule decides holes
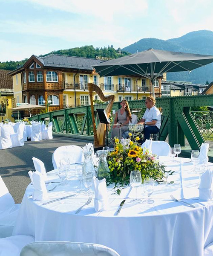
[[[145,142],[141,145],[141,148],[144,148]],[[170,145],[162,140],[153,140],[152,141],[152,153],[158,156],[170,157]]]

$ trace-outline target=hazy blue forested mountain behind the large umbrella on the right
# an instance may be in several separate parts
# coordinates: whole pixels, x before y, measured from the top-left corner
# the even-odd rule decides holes
[[[122,50],[135,53],[153,48],[174,52],[189,52],[213,55],[213,32],[209,30],[193,31],[179,38],[160,40],[156,38],[144,38],[138,42],[124,47]],[[193,70],[192,72],[167,73],[167,79],[173,81],[192,81],[205,84],[213,81],[213,64]]]

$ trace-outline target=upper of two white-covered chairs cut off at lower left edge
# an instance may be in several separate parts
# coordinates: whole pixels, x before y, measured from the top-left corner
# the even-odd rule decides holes
[[[19,209],[0,176],[0,238],[12,235]]]

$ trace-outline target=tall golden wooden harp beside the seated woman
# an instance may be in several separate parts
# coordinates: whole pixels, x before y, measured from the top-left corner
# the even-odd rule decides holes
[[[105,145],[106,125],[99,123],[98,129],[96,129],[92,93],[96,92],[103,102],[109,101],[109,104],[105,109],[108,118],[109,118],[110,111],[112,110],[113,103],[115,102],[115,95],[104,96],[104,93],[102,92],[102,90],[96,84],[92,84],[92,83],[88,84],[88,90],[89,90],[89,97],[91,102],[92,126],[93,126],[93,132],[94,132],[94,146],[101,147]]]

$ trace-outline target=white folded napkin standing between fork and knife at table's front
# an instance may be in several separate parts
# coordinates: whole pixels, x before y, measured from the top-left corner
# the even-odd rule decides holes
[[[93,184],[95,190],[95,211],[106,211],[109,207],[106,179],[98,180],[96,177],[93,177]]]

